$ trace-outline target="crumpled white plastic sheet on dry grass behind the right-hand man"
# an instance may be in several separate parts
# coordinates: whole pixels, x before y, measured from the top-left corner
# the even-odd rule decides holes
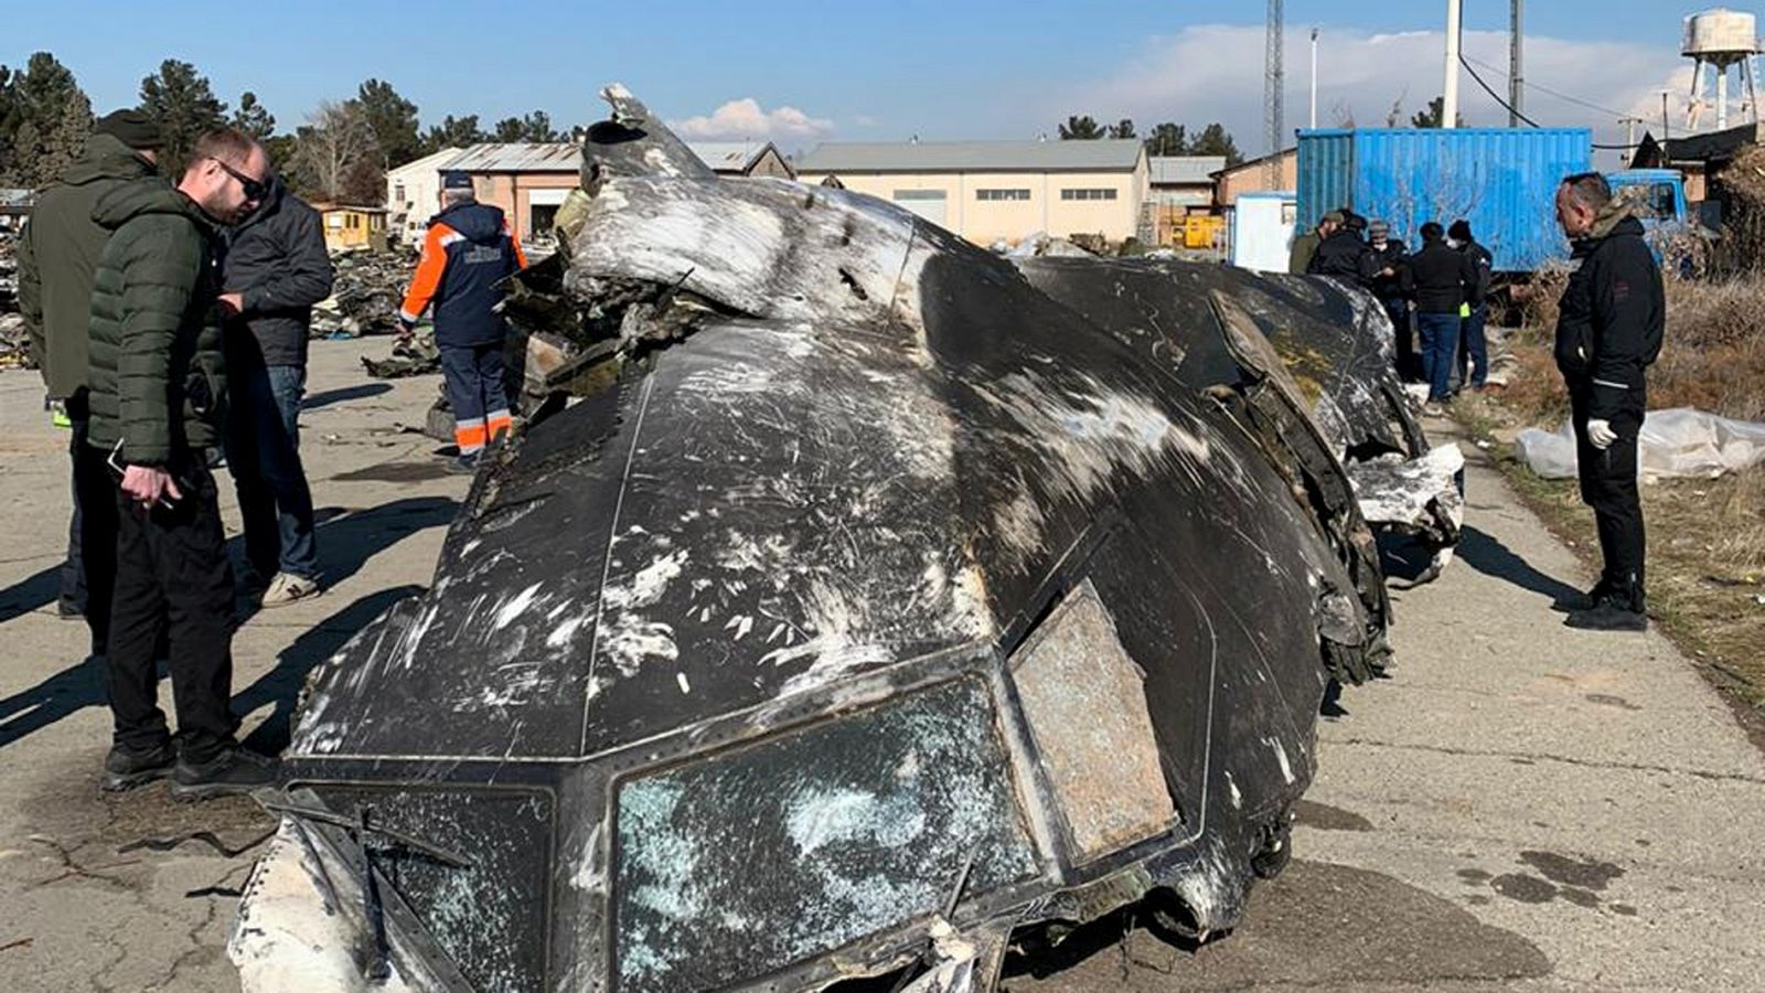
[[[1520,458],[1544,479],[1571,479],[1574,431],[1566,421],[1551,433],[1527,428],[1514,442]],[[1643,419],[1638,475],[1717,477],[1765,463],[1765,424],[1730,421],[1703,410],[1677,406]]]

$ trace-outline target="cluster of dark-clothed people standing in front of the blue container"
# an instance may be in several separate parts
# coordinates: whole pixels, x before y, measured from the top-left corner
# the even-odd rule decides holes
[[[1423,247],[1410,253],[1386,221],[1331,210],[1294,239],[1288,270],[1350,279],[1371,292],[1396,329],[1398,375],[1428,383],[1430,412],[1438,412],[1454,383],[1470,390],[1488,383],[1491,256],[1463,219],[1449,230],[1428,221],[1421,237]]]

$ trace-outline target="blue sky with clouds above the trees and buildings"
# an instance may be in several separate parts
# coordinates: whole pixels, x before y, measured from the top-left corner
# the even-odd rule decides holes
[[[1262,145],[1262,4],[837,2],[607,4],[14,4],[0,62],[37,49],[69,64],[104,110],[136,102],[161,58],[194,62],[217,95],[254,90],[282,127],[369,76],[445,113],[598,115],[620,80],[702,138],[750,131],[787,147],[826,138],[1027,138],[1066,113],[1191,125],[1223,120]],[[286,11],[298,7],[300,16]],[[1375,124],[1438,92],[1444,0],[1288,2],[1290,124],[1304,124],[1304,35],[1324,28],[1320,117]],[[1467,48],[1506,67],[1506,0],[1465,0]],[[1647,106],[1680,71],[1680,11],[1661,0],[1534,0],[1528,78],[1599,104],[1528,97],[1546,124],[1596,124]],[[1433,32],[1433,34],[1424,34]],[[1484,72],[1504,90],[1497,72]],[[1472,124],[1506,120],[1467,88]],[[731,101],[736,106],[725,108]],[[740,102],[740,101],[752,101]],[[701,118],[701,120],[694,120]],[[1601,118],[1601,120],[1596,120]],[[1613,120],[1603,120],[1613,118]]]

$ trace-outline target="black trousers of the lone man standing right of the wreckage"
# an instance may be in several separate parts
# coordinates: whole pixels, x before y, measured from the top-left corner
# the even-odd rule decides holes
[[[1574,458],[1581,477],[1581,502],[1594,509],[1599,553],[1604,569],[1599,578],[1620,601],[1643,610],[1643,505],[1636,493],[1636,440],[1643,428],[1643,390],[1629,390],[1622,410],[1611,417],[1619,436],[1604,451],[1587,440],[1590,385],[1569,385],[1574,422]]]

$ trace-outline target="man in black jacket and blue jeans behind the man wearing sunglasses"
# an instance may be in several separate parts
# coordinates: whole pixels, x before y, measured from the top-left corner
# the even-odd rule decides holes
[[[270,180],[263,203],[228,235],[226,461],[245,523],[247,587],[261,604],[319,594],[312,491],[300,465],[312,304],[332,290],[319,214]]]

